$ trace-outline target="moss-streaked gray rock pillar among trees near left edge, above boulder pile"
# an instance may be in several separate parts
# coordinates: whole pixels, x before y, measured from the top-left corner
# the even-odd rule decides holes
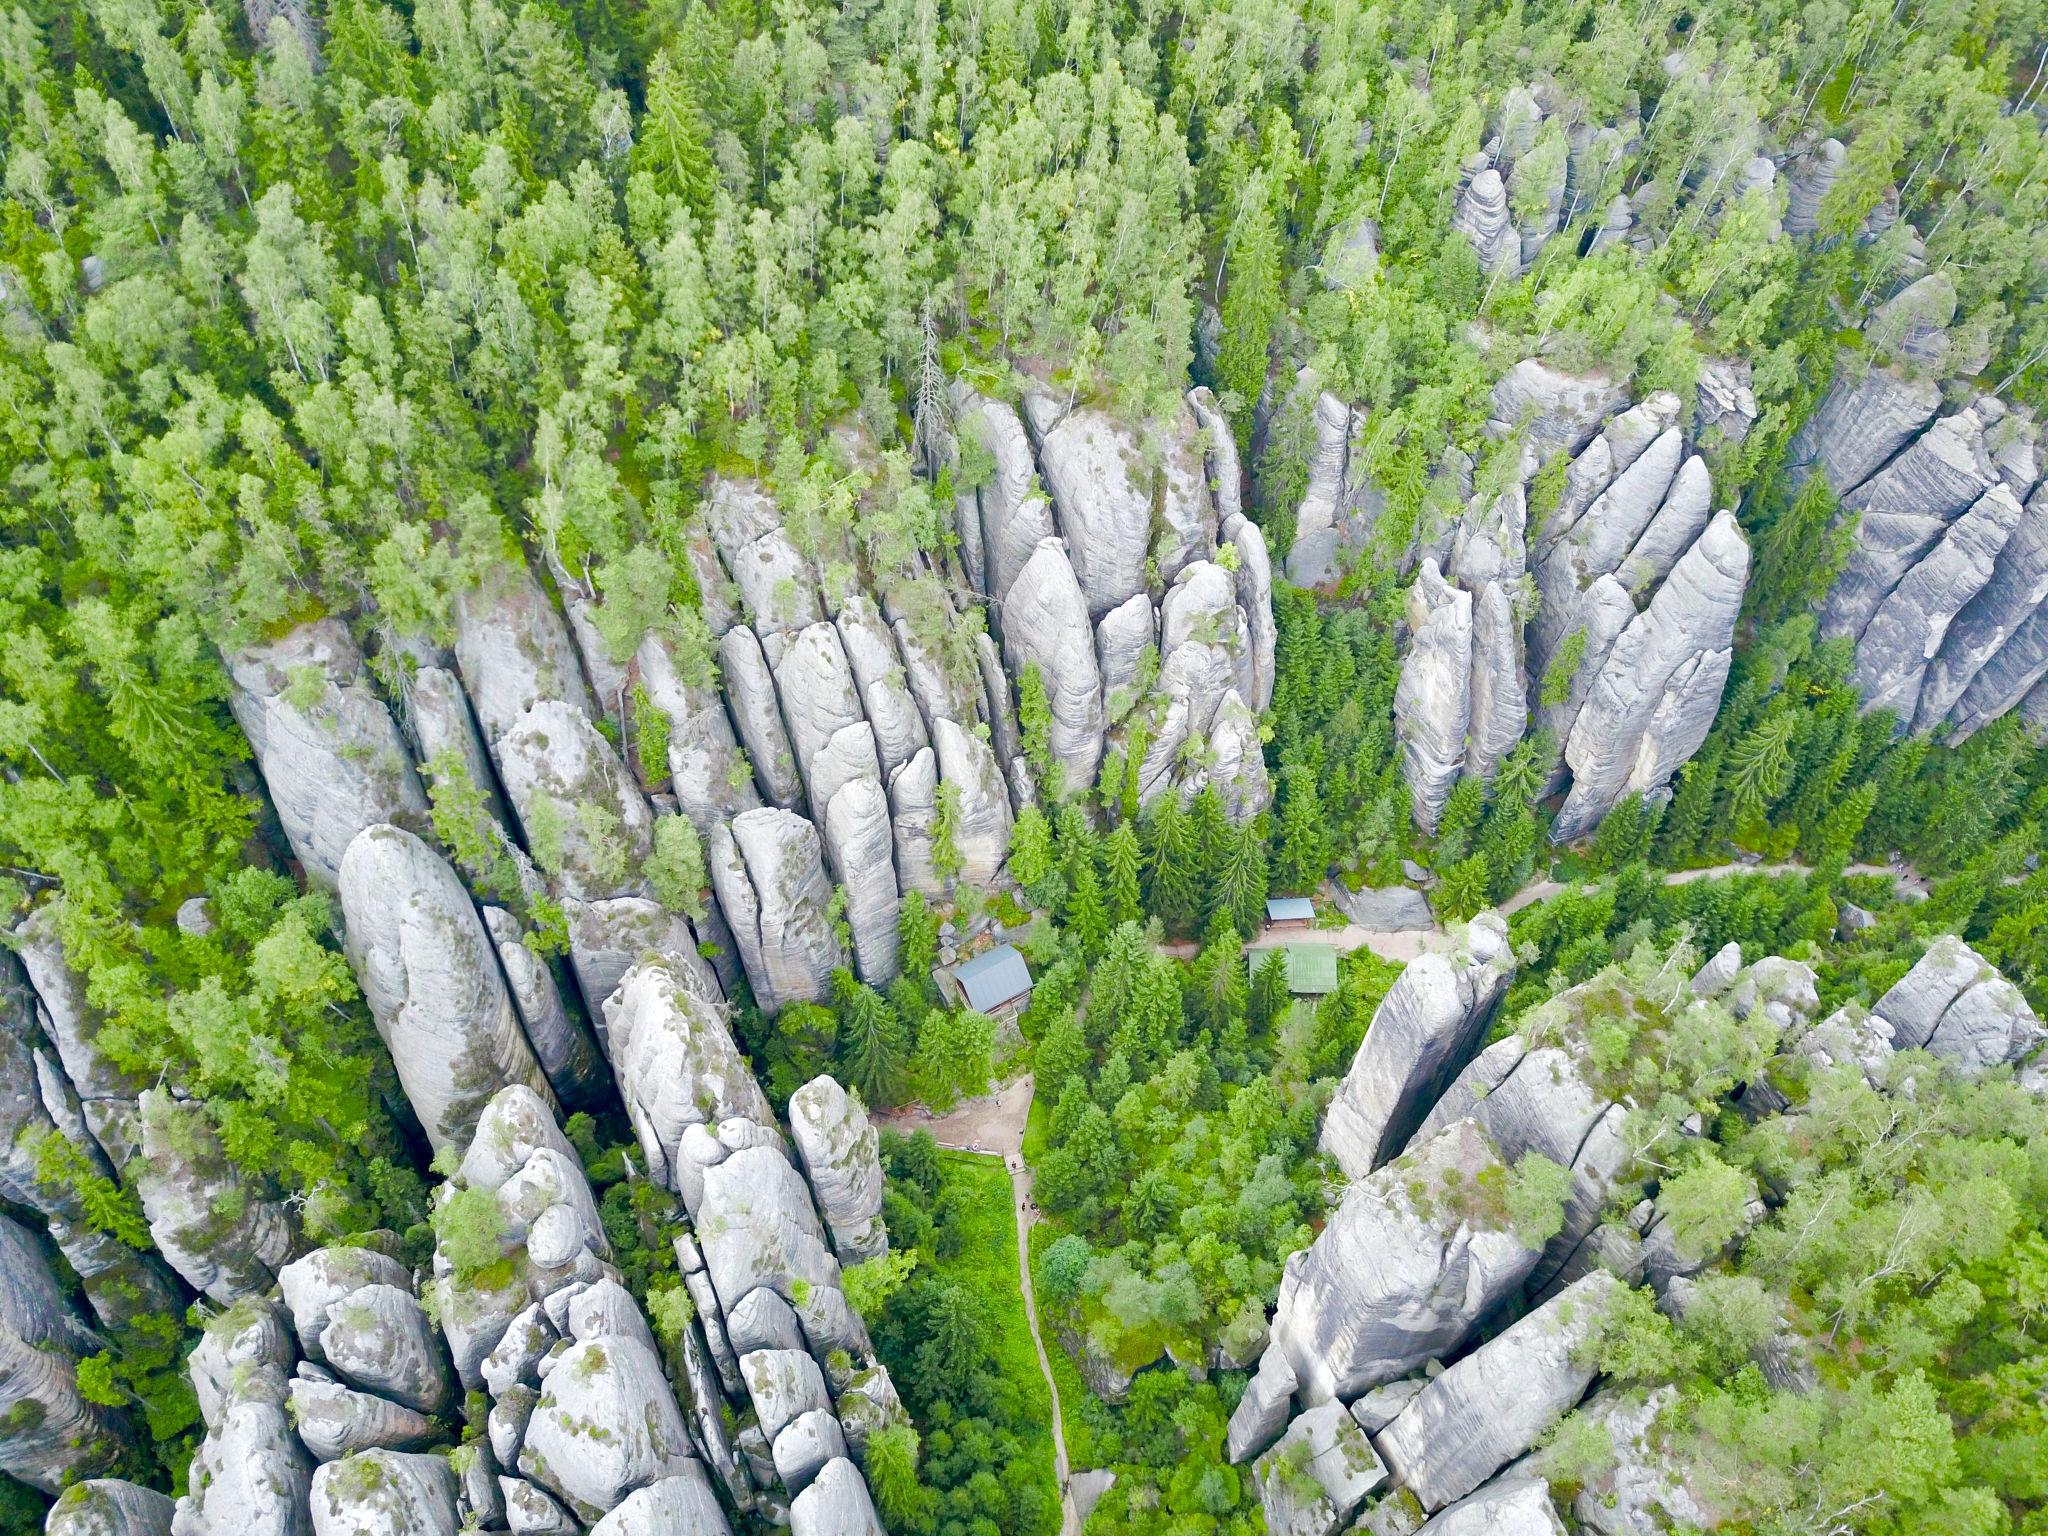
[[[211,1300],[268,1290],[295,1237],[285,1206],[242,1178],[203,1104],[150,1087],[137,1110],[135,1192],[158,1251]]]

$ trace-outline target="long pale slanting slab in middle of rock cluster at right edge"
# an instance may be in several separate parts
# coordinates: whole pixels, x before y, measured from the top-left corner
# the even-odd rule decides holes
[[[1964,604],[1985,590],[2019,516],[2013,494],[1993,485],[1878,604],[1855,643],[1853,680],[1868,709],[1888,709],[1907,723],[1917,717],[1929,657]]]

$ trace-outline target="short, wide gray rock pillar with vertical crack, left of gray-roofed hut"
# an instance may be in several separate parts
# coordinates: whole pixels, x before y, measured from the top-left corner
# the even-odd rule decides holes
[[[846,956],[825,915],[831,885],[817,827],[762,807],[715,827],[705,852],[760,1006],[776,1012],[823,997]]]

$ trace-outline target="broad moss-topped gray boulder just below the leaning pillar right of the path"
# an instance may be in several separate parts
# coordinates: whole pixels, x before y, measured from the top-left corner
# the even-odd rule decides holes
[[[1411,1194],[1477,1190],[1497,1169],[1493,1143],[1460,1120],[1343,1192],[1315,1243],[1288,1260],[1274,1305],[1272,1348],[1305,1401],[1352,1399],[1442,1358],[1528,1278],[1538,1255],[1511,1231],[1456,1198]]]

